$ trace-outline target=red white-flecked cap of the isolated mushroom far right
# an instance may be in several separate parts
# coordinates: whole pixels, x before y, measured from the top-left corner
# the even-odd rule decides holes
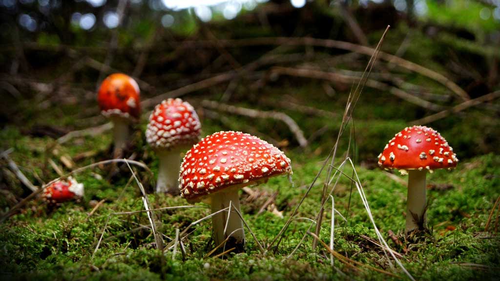
[[[426,126],[405,127],[396,133],[378,155],[378,165],[386,169],[429,170],[456,167],[453,148],[436,130]]]

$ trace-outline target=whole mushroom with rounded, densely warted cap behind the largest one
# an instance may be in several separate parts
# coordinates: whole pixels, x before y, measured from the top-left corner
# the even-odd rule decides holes
[[[159,157],[156,192],[179,194],[180,152],[198,141],[200,127],[194,108],[180,98],[163,100],[154,107],[146,140]]]

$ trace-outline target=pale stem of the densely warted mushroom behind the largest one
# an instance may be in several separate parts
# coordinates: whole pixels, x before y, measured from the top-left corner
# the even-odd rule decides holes
[[[158,180],[156,193],[170,193],[178,195],[180,151],[168,150],[156,152],[159,158]]]

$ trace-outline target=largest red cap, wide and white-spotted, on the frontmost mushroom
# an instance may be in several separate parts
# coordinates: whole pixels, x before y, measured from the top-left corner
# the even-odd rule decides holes
[[[290,159],[272,144],[239,131],[219,131],[187,151],[180,166],[180,195],[199,202],[225,188],[285,173],[292,173]]]

